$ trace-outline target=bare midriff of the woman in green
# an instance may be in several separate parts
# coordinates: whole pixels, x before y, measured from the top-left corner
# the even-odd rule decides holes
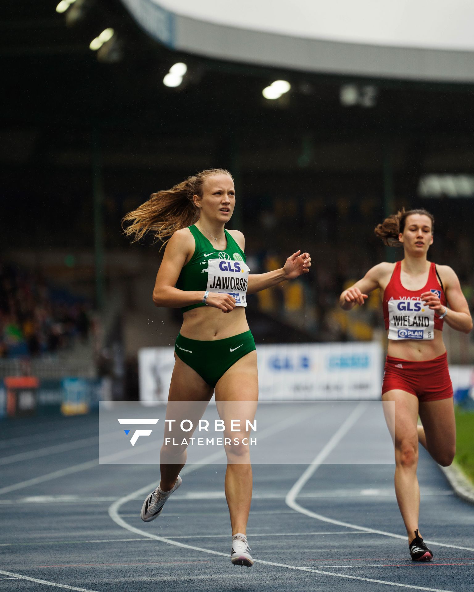
[[[245,307],[235,307],[230,313],[220,308],[201,306],[183,314],[180,333],[188,339],[213,341],[226,339],[249,330]]]

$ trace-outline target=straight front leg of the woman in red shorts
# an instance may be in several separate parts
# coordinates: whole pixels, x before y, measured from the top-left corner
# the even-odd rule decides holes
[[[419,517],[418,465],[418,398],[405,391],[385,392],[384,401],[395,402],[395,422],[387,418],[395,446],[395,494],[405,523],[408,542],[415,538]],[[387,417],[387,415],[386,415]],[[420,533],[421,536],[421,533]]]

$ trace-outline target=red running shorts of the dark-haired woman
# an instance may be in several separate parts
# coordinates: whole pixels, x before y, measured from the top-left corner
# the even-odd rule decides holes
[[[437,401],[453,396],[447,352],[433,360],[409,362],[387,356],[382,394],[401,390],[411,392],[419,401]]]

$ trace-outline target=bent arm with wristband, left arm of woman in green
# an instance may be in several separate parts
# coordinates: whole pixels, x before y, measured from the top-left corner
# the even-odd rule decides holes
[[[155,306],[182,308],[203,301],[203,290],[187,292],[175,287],[181,269],[193,256],[194,247],[193,235],[188,229],[177,230],[169,239],[158,274],[156,274],[155,288],[153,288]],[[230,294],[210,292],[206,303],[214,308],[220,308],[224,313],[235,308],[235,299]]]

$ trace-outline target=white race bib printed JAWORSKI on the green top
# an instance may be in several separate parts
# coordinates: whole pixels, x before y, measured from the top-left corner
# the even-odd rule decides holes
[[[230,294],[236,306],[246,306],[249,266],[244,261],[209,259],[207,290],[217,294]]]

